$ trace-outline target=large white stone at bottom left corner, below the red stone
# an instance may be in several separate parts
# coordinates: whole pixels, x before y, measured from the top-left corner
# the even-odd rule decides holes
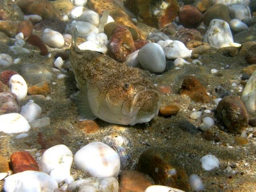
[[[58,183],[48,174],[38,171],[24,171],[4,179],[6,192],[54,192]]]

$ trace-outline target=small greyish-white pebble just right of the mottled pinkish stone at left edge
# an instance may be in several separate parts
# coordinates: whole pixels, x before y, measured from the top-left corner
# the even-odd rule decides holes
[[[41,116],[42,108],[34,102],[28,102],[26,105],[22,106],[20,114],[28,122],[32,122]]]

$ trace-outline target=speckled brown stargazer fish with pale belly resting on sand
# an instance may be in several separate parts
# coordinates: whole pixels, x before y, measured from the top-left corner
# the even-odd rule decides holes
[[[134,125],[158,114],[160,96],[143,70],[121,64],[109,56],[76,46],[75,28],[70,62],[80,91],[72,96],[84,120]]]

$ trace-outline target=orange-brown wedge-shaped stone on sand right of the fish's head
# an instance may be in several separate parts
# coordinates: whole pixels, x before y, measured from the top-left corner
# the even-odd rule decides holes
[[[188,95],[195,102],[208,103],[210,97],[206,93],[204,86],[194,76],[186,76],[182,82],[181,95]]]

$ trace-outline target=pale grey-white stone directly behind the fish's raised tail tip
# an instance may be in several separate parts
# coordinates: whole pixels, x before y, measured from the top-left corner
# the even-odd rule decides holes
[[[76,21],[66,26],[65,31],[73,34],[74,28],[78,28],[78,37],[86,39],[90,34],[98,33],[98,28],[89,22]]]

